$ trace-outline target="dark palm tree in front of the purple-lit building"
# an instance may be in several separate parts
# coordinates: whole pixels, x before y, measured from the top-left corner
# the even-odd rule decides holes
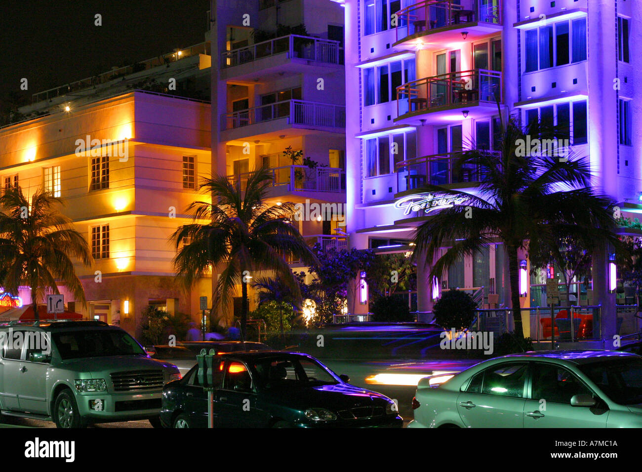
[[[423,190],[461,198],[460,204],[435,214],[415,232],[415,254],[431,264],[440,247],[449,247],[431,270],[441,277],[455,261],[501,241],[507,251],[510,294],[515,334],[523,337],[519,310],[519,259],[517,251],[539,252],[552,247],[556,236],[573,240],[611,241],[614,220],[612,200],[590,188],[591,172],[586,158],[569,150],[566,158],[523,151],[523,143],[537,139],[568,138],[568,130],[533,121],[521,127],[514,116],[501,120],[499,149],[472,149],[458,153],[455,170],[476,168],[479,185],[458,191],[437,185]],[[526,155],[524,155],[526,154]]]

